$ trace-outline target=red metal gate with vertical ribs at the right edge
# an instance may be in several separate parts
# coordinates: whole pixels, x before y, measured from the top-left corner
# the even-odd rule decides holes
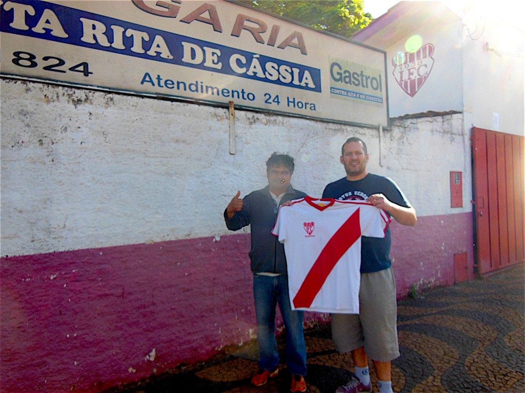
[[[472,128],[476,265],[485,274],[524,261],[524,137]]]

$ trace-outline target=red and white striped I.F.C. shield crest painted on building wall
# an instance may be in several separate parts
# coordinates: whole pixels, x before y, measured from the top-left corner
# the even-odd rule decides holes
[[[434,45],[426,43],[416,52],[397,53],[392,58],[394,77],[406,94],[413,97],[425,83],[434,65]]]

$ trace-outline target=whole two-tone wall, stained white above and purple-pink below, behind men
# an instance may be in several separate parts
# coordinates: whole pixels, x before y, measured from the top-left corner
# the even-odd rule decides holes
[[[1,82],[2,355],[6,390],[100,390],[194,362],[256,334],[249,232],[227,231],[237,190],[266,184],[273,151],[312,196],[344,176],[349,136],[419,222],[393,224],[398,297],[472,277],[470,148],[461,115],[391,130],[28,81]],[[464,172],[450,208],[449,171]],[[325,321],[308,313],[308,323]],[[50,345],[50,343],[53,343]],[[155,351],[153,352],[153,348]]]

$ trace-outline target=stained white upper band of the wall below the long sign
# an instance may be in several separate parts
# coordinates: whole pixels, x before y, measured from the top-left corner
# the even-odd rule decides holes
[[[233,195],[266,185],[273,151],[296,158],[292,184],[320,196],[344,176],[341,145],[359,136],[369,170],[393,178],[419,216],[450,209],[449,171],[469,181],[461,116],[412,119],[379,131],[226,108],[3,79],[1,254],[229,234]]]

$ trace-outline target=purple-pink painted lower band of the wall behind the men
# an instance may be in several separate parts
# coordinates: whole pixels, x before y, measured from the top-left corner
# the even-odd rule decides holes
[[[393,224],[398,298],[473,274],[471,213]],[[256,334],[249,235],[1,259],[3,391],[100,391]],[[308,322],[326,320],[307,313]]]

